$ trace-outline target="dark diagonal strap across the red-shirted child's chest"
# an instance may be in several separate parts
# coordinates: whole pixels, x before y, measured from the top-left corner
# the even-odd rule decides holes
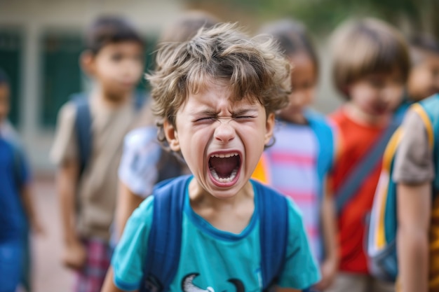
[[[384,150],[386,149],[389,139],[393,135],[393,132],[399,127],[403,120],[403,113],[395,113],[390,125],[384,130],[379,140],[370,148],[369,151],[358,162],[349,176],[344,180],[342,186],[335,194],[335,208],[337,214],[339,214],[351,198],[356,194],[358,188],[362,186],[365,177],[367,177],[374,167],[378,165],[380,158],[382,157]]]

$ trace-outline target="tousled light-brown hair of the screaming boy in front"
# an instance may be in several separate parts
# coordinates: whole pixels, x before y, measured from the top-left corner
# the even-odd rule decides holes
[[[227,82],[232,98],[259,102],[267,115],[288,104],[288,60],[272,39],[249,38],[234,24],[202,29],[190,41],[164,45],[158,50],[156,66],[147,79],[161,141],[163,121],[175,125],[175,115],[189,93],[203,90],[212,81]]]

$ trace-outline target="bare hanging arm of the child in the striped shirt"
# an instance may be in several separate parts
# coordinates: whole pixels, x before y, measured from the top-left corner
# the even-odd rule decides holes
[[[329,186],[327,190],[329,190]],[[320,210],[320,222],[323,230],[325,244],[325,260],[320,267],[321,281],[316,285],[317,290],[325,290],[335,277],[339,264],[337,250],[337,218],[335,215],[334,197],[329,191],[325,192]]]

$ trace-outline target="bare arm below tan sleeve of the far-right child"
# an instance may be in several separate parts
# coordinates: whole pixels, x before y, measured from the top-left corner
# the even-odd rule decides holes
[[[428,291],[431,183],[398,184],[398,267],[402,292]]]

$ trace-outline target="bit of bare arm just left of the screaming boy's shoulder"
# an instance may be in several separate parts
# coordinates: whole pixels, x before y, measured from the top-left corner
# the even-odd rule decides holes
[[[117,238],[121,238],[126,221],[128,221],[128,218],[130,218],[133,211],[143,200],[143,197],[136,195],[123,181],[119,181],[119,192],[116,204]]]

